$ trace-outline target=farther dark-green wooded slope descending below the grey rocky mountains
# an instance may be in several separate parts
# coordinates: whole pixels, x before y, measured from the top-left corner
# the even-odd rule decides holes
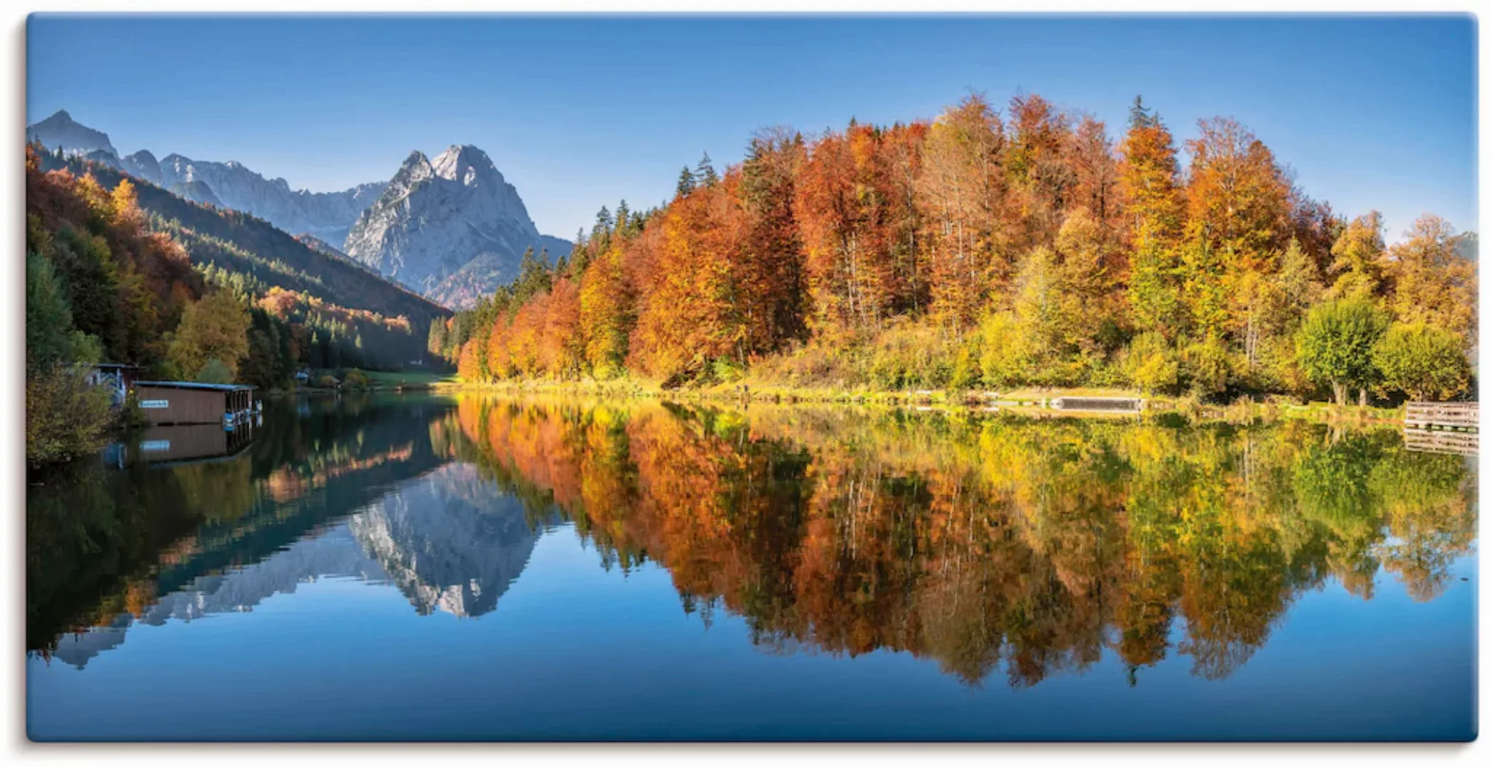
[[[40,158],[45,168],[92,176],[106,191],[125,179],[78,158]],[[149,226],[180,243],[210,281],[304,329],[307,365],[400,368],[422,360],[431,322],[450,314],[253,216],[191,203],[139,179],[131,185]]]

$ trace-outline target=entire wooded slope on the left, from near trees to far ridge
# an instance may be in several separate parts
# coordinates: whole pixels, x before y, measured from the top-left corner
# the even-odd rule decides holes
[[[449,314],[256,219],[185,203],[97,165],[76,170],[27,147],[31,466],[101,445],[118,411],[107,389],[86,383],[91,363],[139,365],[146,378],[271,389],[307,365],[422,359],[432,319]],[[349,308],[377,301],[388,301],[391,313]]]

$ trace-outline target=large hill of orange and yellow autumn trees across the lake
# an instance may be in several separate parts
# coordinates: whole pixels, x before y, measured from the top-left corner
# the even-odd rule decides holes
[[[526,259],[431,328],[471,381],[1452,398],[1470,389],[1473,232],[1309,198],[1248,128],[1176,146],[1039,95],[935,121],[757,134],[661,209]]]

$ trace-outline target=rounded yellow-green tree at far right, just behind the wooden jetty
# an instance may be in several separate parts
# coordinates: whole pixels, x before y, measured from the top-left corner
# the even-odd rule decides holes
[[[1372,350],[1385,390],[1419,401],[1454,398],[1470,386],[1464,340],[1427,323],[1393,323]]]

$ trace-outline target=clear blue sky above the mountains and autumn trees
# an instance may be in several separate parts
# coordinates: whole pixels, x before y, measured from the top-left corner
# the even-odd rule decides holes
[[[294,188],[388,179],[412,149],[485,149],[538,228],[668,198],[751,133],[933,118],[1020,91],[1123,128],[1144,94],[1179,140],[1230,115],[1390,240],[1476,228],[1470,16],[31,16],[28,122],[67,109],[121,152],[237,159]]]

